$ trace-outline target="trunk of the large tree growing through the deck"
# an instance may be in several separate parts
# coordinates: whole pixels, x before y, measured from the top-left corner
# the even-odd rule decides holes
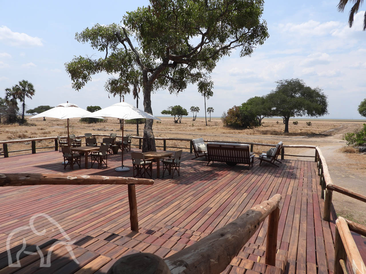
[[[143,81],[143,107],[144,111],[153,115],[151,108],[151,88],[152,83],[149,83],[147,78],[146,69],[142,70],[142,81]],[[155,137],[153,133],[153,121],[152,119],[145,120],[145,126],[143,128],[142,138],[142,152],[156,151]]]

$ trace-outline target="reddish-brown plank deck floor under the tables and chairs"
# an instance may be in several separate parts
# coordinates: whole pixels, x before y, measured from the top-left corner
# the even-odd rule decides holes
[[[153,186],[136,186],[139,233],[130,231],[127,186],[27,186],[0,189],[0,274],[1,273],[107,273],[116,259],[134,252],[150,252],[163,258],[182,250],[215,229],[235,220],[253,205],[274,194],[282,195],[277,237],[278,268],[285,273],[332,273],[334,265],[335,212],[332,221],[322,220],[324,202],[320,197],[319,177],[313,161],[284,160],[280,168],[269,164],[229,167],[224,163],[206,166],[203,160],[191,160],[184,153],[181,175],[156,179]],[[42,152],[0,159],[0,172],[36,172],[77,175],[121,176],[120,153],[108,156],[108,168],[66,171],[59,152]],[[202,158],[201,158],[202,159]],[[131,167],[123,176],[132,176],[129,153],[125,165]],[[90,165],[89,165],[90,166]],[[29,228],[14,233],[11,254],[22,247],[47,254],[52,245],[71,241],[78,260],[75,263],[65,246],[52,252],[51,267],[40,267],[39,255],[19,252],[21,267],[8,267],[6,241],[14,229],[29,225],[37,213],[57,221],[71,240],[44,217],[35,219],[38,231]],[[264,273],[262,263],[267,221],[258,229],[242,252],[224,273]],[[362,244],[362,238],[356,237]],[[363,250],[360,253],[364,252]],[[259,256],[259,257],[258,257]],[[281,267],[281,260],[286,261]],[[247,269],[247,271],[246,271]],[[251,270],[249,270],[251,269]],[[250,272],[252,271],[252,272]],[[267,272],[266,272],[267,273]]]

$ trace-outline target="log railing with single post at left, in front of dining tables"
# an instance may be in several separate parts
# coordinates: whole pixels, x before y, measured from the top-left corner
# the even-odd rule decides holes
[[[130,206],[131,230],[138,232],[137,201],[135,184],[154,184],[151,179],[129,177],[96,176],[96,175],[65,175],[41,173],[0,173],[0,187],[4,186],[36,186],[42,184],[127,184],[128,203]]]

